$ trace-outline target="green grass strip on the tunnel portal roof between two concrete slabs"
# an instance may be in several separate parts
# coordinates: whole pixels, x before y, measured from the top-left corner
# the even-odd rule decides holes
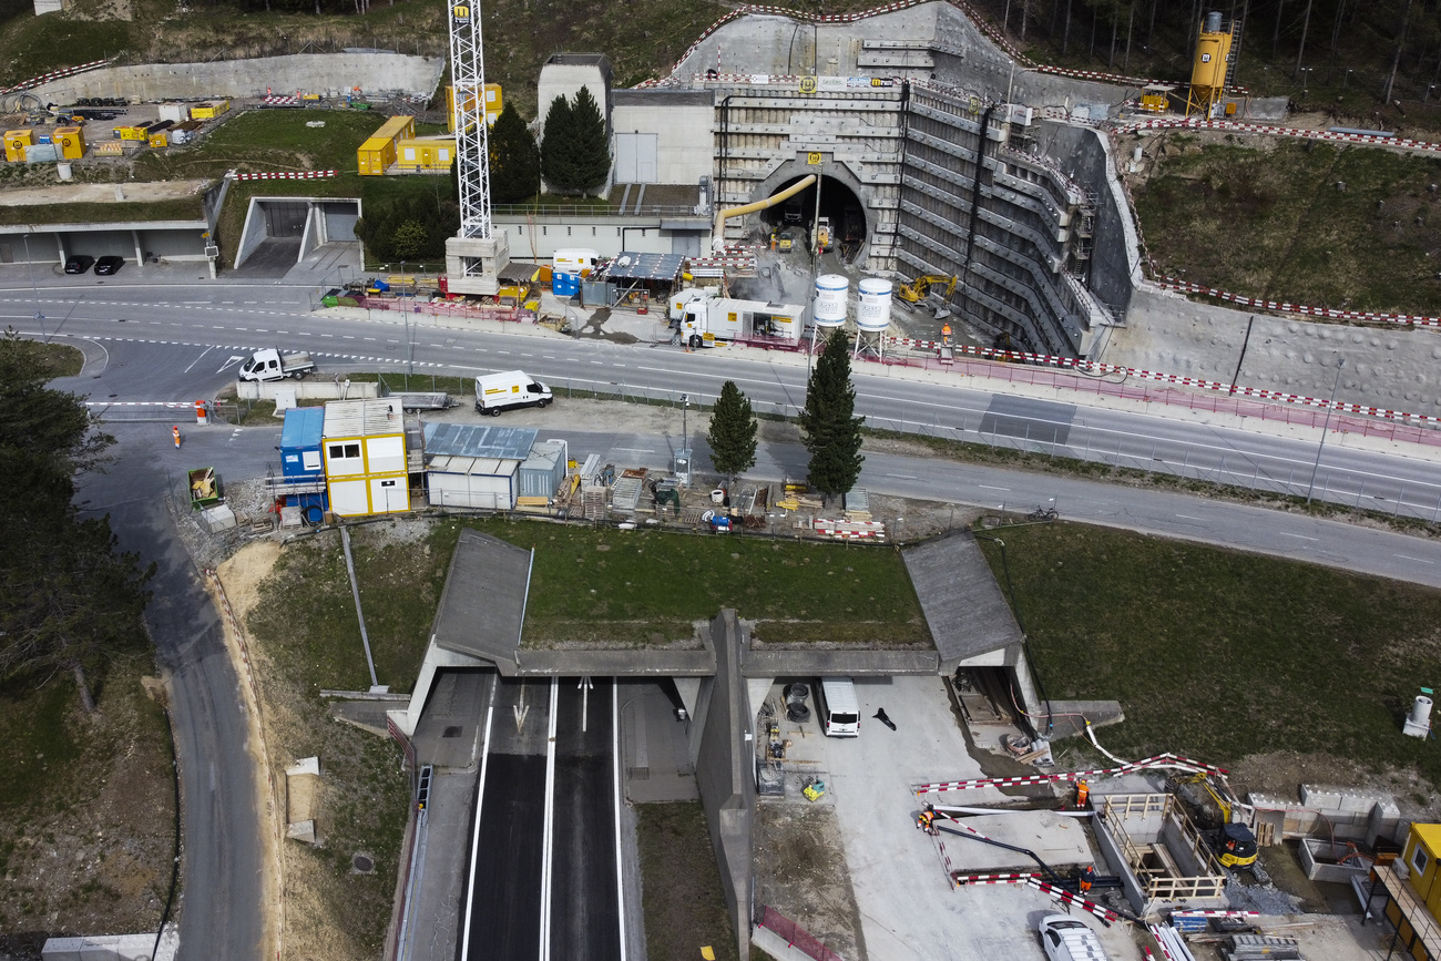
[[[929,633],[901,555],[787,539],[610,530],[527,520],[470,526],[536,552],[527,644],[686,641],[723,607],[759,641],[921,644]],[[435,532],[450,556],[460,526]]]

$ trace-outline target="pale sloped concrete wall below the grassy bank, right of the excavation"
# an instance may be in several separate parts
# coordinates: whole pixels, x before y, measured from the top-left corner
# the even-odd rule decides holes
[[[1336,399],[1441,415],[1441,331],[1435,328],[1267,317],[1143,285],[1131,297],[1127,326],[1111,334],[1099,360],[1223,383],[1235,377],[1252,388],[1329,398],[1337,357],[1346,359],[1346,367]]]

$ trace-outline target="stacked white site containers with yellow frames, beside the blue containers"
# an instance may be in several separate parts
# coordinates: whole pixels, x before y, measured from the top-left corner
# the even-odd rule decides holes
[[[399,399],[330,401],[323,437],[330,510],[363,517],[411,509]]]

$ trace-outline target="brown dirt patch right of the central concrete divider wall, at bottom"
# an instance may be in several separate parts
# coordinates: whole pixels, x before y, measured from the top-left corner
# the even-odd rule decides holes
[[[836,810],[829,804],[762,803],[755,813],[755,902],[793,919],[843,958],[865,958],[860,908]]]

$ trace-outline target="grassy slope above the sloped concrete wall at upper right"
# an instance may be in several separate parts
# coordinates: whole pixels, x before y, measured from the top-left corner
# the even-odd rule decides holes
[[[1136,197],[1163,272],[1303,304],[1441,310],[1441,193],[1431,190],[1441,161],[1329,144],[1197,147],[1174,135],[1166,151]]]

